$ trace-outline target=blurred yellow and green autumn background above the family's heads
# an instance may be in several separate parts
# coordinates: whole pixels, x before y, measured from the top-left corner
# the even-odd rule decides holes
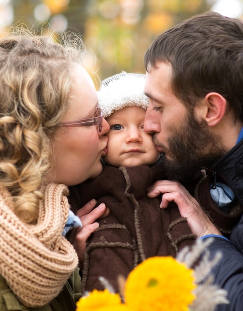
[[[104,79],[122,70],[144,73],[144,53],[157,35],[208,10],[242,18],[243,0],[0,0],[0,32],[21,23],[57,38],[80,33],[87,70]]]

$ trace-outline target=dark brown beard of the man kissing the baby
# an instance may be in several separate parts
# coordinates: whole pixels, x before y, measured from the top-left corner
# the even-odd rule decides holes
[[[167,149],[157,140],[156,134],[153,143],[165,150],[162,163],[168,178],[179,181],[196,178],[203,168],[210,167],[227,153],[221,147],[220,138],[209,131],[205,121],[198,122],[192,112],[188,112],[177,132],[167,138]]]

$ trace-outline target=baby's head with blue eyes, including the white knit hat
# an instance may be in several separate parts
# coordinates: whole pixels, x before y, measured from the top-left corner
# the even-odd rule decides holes
[[[125,72],[107,78],[98,91],[99,106],[110,125],[106,164],[115,167],[151,165],[160,158],[144,131],[148,97],[145,76]]]

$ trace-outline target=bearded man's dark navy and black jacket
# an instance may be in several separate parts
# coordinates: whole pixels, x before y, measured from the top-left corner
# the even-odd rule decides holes
[[[216,176],[215,176],[216,173]],[[208,196],[209,181],[221,178],[234,193],[236,200],[233,202],[230,215],[225,215],[217,209]],[[242,311],[243,310],[243,140],[229,153],[215,163],[199,187],[199,197],[210,218],[223,233],[229,234],[231,242],[222,238],[215,238],[209,246],[211,256],[216,252],[222,253],[222,259],[213,268],[215,283],[220,288],[227,290],[229,305],[219,305],[217,311]],[[231,227],[233,229],[231,230]]]

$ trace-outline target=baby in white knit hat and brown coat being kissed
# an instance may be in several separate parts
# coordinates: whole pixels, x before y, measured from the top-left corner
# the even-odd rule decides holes
[[[148,257],[175,256],[195,240],[176,204],[162,210],[161,197],[147,196],[148,187],[166,176],[162,157],[143,129],[148,107],[144,84],[144,75],[122,72],[103,80],[98,91],[110,125],[103,172],[70,190],[71,196],[78,194],[79,206],[95,198],[110,214],[98,221],[99,228],[87,242],[82,292],[104,289],[99,277],[118,292],[118,276],[126,278]]]

